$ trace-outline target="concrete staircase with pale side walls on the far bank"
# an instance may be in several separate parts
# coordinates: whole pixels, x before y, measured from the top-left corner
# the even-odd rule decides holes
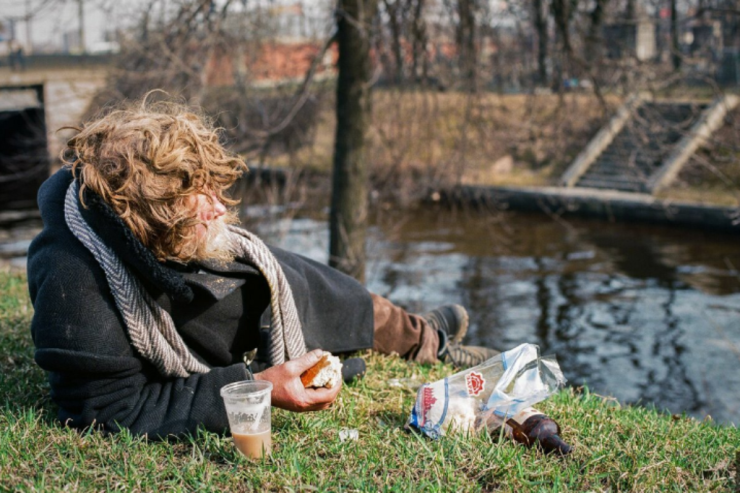
[[[653,193],[677,176],[736,104],[732,96],[712,104],[634,96],[571,164],[561,184]]]

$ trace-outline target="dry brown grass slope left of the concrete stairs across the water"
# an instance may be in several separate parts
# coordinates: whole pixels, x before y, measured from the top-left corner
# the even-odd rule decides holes
[[[498,95],[377,90],[368,160],[378,186],[400,181],[545,185],[570,161],[607,113],[590,95]],[[325,104],[313,146],[269,158],[274,166],[331,169],[335,115]],[[510,166],[496,165],[501,159]],[[413,184],[413,183],[411,183]]]

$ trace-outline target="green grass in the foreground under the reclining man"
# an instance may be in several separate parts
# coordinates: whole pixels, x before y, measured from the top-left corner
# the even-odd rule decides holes
[[[33,362],[25,278],[0,273],[0,490],[197,491],[730,491],[740,431],[623,407],[587,389],[539,406],[574,445],[545,456],[498,436],[431,441],[406,433],[414,400],[391,378],[432,380],[442,365],[367,355],[368,374],[329,410],[273,413],[274,453],[242,458],[227,438],[179,442],[105,437],[59,426]],[[359,431],[342,442],[342,428]]]

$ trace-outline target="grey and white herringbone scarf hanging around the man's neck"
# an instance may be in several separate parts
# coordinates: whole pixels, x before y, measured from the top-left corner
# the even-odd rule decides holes
[[[149,296],[141,282],[92,230],[80,212],[79,184],[67,189],[64,217],[67,226],[92,253],[105,272],[108,286],[121,313],[131,344],[145,359],[167,377],[187,377],[207,373],[208,368],[193,357],[177,332],[172,317]],[[306,353],[301,322],[285,273],[270,250],[257,236],[235,226],[228,228],[228,241],[234,253],[262,273],[270,286],[272,325],[269,359],[279,365]]]

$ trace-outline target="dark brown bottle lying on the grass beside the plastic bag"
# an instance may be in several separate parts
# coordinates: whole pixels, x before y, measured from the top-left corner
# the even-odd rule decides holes
[[[546,454],[567,455],[572,450],[570,445],[560,438],[560,426],[533,407],[528,407],[513,418],[509,418],[504,432],[528,447],[537,445]]]

